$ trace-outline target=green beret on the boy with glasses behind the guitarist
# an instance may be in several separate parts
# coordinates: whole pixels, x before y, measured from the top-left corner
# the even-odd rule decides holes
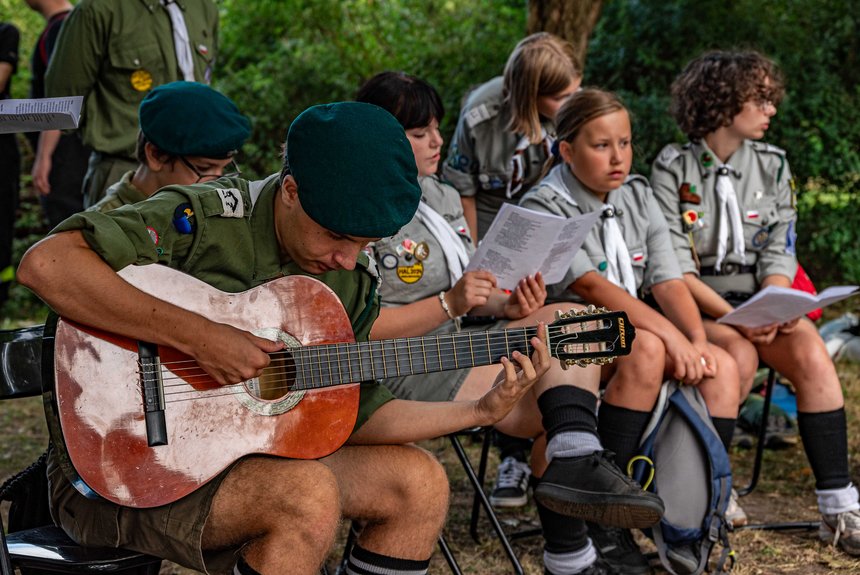
[[[224,94],[197,82],[170,82],[140,103],[140,131],[172,156],[229,158],[251,133],[248,118]]]

